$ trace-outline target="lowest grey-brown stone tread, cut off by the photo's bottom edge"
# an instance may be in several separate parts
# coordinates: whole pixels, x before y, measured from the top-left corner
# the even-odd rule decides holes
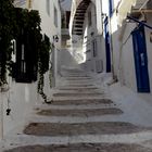
[[[25,145],[4,152],[152,152],[152,149],[135,143],[68,143]]]

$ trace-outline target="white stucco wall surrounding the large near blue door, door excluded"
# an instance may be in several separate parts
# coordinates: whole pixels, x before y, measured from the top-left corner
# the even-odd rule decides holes
[[[116,1],[116,0],[115,0]],[[116,2],[115,2],[116,3]],[[147,15],[147,24],[152,26],[151,15]],[[137,80],[136,80],[136,68],[135,68],[135,59],[134,59],[134,48],[132,48],[132,36],[130,33],[137,26],[137,23],[127,23],[125,28],[124,38],[119,41],[121,27],[116,26],[117,16],[114,12],[111,24],[112,24],[112,41],[113,41],[113,64],[115,75],[118,76],[118,80],[137,92]],[[145,30],[145,41],[147,41],[147,54],[148,54],[148,68],[149,68],[149,78],[150,87],[152,88],[152,42],[150,42],[151,29],[144,28]],[[121,43],[125,43],[122,49],[121,54]],[[121,56],[121,76],[119,76],[119,56]],[[143,99],[151,101],[152,93],[138,93]]]

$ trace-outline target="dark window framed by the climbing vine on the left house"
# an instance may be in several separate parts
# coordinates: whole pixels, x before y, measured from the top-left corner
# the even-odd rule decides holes
[[[16,39],[16,61],[13,65],[13,78],[16,83],[37,80],[37,48],[33,33],[23,30]]]

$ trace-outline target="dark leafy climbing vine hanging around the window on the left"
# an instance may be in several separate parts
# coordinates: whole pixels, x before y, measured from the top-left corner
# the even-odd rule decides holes
[[[38,74],[38,93],[47,102],[47,96],[43,91],[45,74],[49,71],[50,87],[52,77],[52,67],[49,66],[51,53],[49,37],[41,34],[41,18],[38,11],[14,8],[12,3],[13,0],[0,0],[0,87],[8,84],[8,69],[10,76],[14,78],[17,76],[17,63],[12,61],[11,41],[16,40],[20,43],[20,40],[24,39],[22,42],[25,42],[29,53],[26,60],[31,60],[28,63],[34,64],[35,74],[30,78],[36,80],[34,77]],[[20,49],[17,50],[21,54]]]

